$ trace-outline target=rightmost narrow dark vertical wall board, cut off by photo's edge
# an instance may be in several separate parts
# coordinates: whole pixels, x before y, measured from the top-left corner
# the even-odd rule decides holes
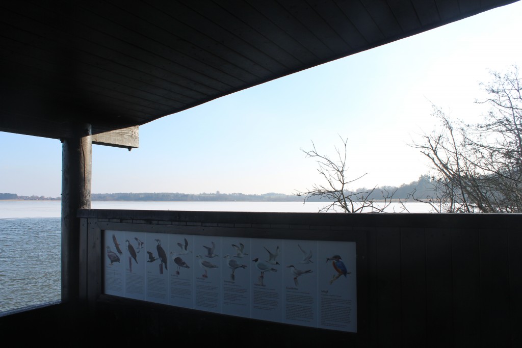
[[[509,316],[512,347],[522,347],[522,231],[508,231]]]

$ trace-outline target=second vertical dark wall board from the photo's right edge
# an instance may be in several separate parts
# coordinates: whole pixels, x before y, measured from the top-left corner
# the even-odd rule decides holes
[[[509,282],[507,232],[480,231],[481,343],[508,347]]]

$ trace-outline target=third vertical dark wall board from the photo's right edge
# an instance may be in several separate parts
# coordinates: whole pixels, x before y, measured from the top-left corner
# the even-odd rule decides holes
[[[480,267],[477,230],[452,230],[453,334],[457,347],[480,345]]]

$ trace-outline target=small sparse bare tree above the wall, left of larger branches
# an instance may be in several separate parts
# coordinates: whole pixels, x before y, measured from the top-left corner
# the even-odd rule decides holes
[[[320,154],[315,148],[312,141],[312,150],[306,151],[301,149],[306,154],[306,158],[313,158],[318,163],[317,169],[319,175],[326,182],[325,184],[314,184],[312,189],[305,191],[296,191],[296,196],[304,196],[304,201],[311,198],[319,198],[328,201],[327,205],[319,209],[319,212],[339,211],[356,213],[356,212],[384,212],[384,210],[392,203],[394,193],[387,190],[379,190],[381,193],[381,204],[377,204],[377,199],[371,198],[375,195],[376,187],[361,191],[351,191],[349,185],[362,178],[363,174],[355,179],[348,179],[346,167],[347,143],[348,139],[339,138],[342,141],[343,147],[335,148],[337,153],[335,159],[331,159],[326,154]]]

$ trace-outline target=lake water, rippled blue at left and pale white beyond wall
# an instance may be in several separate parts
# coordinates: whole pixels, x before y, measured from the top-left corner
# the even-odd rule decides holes
[[[93,209],[317,212],[323,202],[93,201]],[[399,205],[389,211],[400,212]],[[428,212],[410,203],[410,212]],[[0,314],[61,298],[61,202],[0,201]]]

